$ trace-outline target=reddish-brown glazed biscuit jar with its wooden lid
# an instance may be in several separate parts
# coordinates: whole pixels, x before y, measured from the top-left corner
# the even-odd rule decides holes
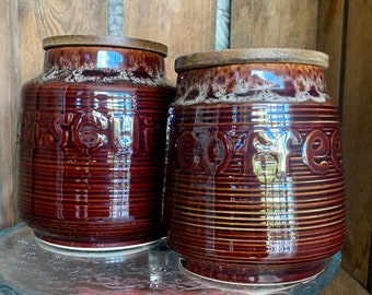
[[[113,36],[44,39],[22,90],[21,216],[43,241],[114,249],[160,237],[166,46]]]

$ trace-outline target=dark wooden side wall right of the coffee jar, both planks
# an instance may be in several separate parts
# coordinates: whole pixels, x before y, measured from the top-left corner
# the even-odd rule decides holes
[[[347,197],[342,267],[372,283],[372,2],[319,0],[317,49],[329,55],[328,92],[339,97]]]

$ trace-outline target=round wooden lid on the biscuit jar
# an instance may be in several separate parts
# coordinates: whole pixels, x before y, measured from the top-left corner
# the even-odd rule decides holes
[[[132,48],[158,52],[164,57],[167,55],[167,47],[161,43],[121,36],[60,35],[43,39],[43,48],[45,50],[55,47],[77,45]]]

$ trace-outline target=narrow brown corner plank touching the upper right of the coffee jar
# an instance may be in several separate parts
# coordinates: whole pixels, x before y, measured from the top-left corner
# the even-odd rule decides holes
[[[316,49],[329,56],[327,92],[341,107],[342,33],[345,0],[319,0]]]

